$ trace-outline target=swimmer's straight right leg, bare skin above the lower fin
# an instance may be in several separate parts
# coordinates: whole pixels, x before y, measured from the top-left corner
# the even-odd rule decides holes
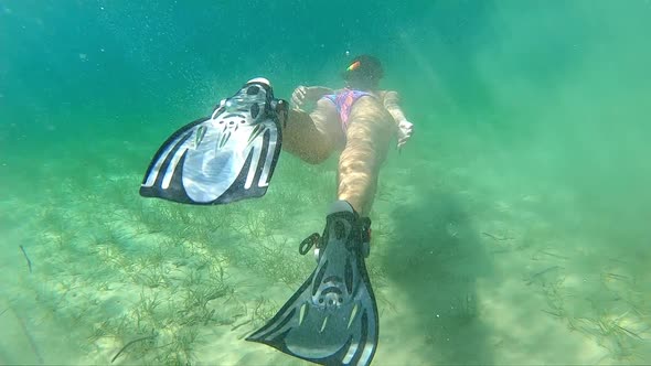
[[[372,97],[361,97],[353,105],[349,121],[345,148],[339,158],[338,198],[349,202],[364,217],[371,212],[395,123]]]

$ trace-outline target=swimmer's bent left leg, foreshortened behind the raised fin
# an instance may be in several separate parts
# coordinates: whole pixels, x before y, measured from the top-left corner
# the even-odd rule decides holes
[[[318,164],[330,157],[342,139],[337,108],[330,100],[320,99],[311,114],[289,111],[282,130],[282,149],[308,163]]]

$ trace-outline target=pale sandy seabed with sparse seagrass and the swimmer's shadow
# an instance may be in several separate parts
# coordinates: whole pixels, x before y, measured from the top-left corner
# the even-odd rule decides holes
[[[583,230],[566,187],[413,158],[389,157],[372,216],[374,365],[651,362],[648,248]],[[264,198],[190,207],[119,166],[50,174],[65,164],[40,171],[42,202],[0,202],[1,364],[305,364],[244,337],[313,269],[297,249],[332,166],[285,158]]]

